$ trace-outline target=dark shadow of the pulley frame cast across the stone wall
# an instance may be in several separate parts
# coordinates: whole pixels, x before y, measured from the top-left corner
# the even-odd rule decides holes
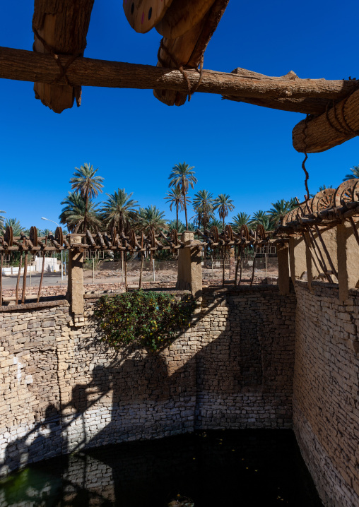
[[[187,338],[180,336],[172,352],[112,351],[110,364],[98,364],[88,383],[76,383],[69,400],[60,400],[60,410],[50,403],[40,422],[8,443],[6,470],[81,448],[158,438],[196,427],[246,427],[250,412],[257,414],[252,414],[257,421],[273,400],[273,413],[266,420],[261,415],[258,427],[290,427],[291,385],[283,388],[273,381],[269,346],[264,344],[273,338],[261,329],[266,322],[260,312],[256,321],[246,317],[228,321],[213,340],[207,340],[201,325],[225,299],[217,296],[210,308],[194,315],[191,333],[196,328],[196,343],[188,343],[196,348],[182,349],[178,343]],[[229,311],[236,305],[229,304]],[[103,354],[98,340],[78,346],[88,352],[94,345]],[[95,413],[88,416],[91,410]],[[278,417],[286,424],[278,424]]]

